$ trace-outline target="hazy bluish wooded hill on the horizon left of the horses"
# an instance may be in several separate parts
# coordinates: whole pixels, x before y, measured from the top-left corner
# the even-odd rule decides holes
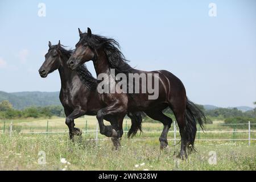
[[[29,106],[61,105],[59,92],[15,92],[0,91],[0,102],[9,100],[15,109]]]

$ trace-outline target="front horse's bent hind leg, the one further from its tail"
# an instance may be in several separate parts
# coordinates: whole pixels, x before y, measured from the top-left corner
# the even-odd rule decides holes
[[[159,141],[160,141],[160,149],[166,148],[168,146],[167,134],[171,127],[172,119],[164,115],[162,111],[151,110],[151,111],[145,111],[145,113],[148,115],[148,117],[163,123],[164,128],[163,128],[162,134],[160,135]]]

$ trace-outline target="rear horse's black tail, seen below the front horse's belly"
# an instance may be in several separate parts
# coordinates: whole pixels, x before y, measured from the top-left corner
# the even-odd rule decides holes
[[[142,132],[141,123],[142,123],[142,116],[144,114],[143,112],[137,112],[137,113],[128,113],[128,115],[131,118],[131,128],[127,133],[127,137],[133,138],[134,135],[137,134],[138,130]]]

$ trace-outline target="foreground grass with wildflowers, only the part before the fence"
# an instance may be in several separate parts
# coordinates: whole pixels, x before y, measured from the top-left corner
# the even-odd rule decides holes
[[[110,140],[76,140],[70,142],[67,134],[0,135],[1,170],[255,170],[256,145],[251,142],[196,142],[198,153],[187,160],[176,158],[179,146],[160,151],[157,139],[134,141],[122,139],[122,147],[112,150]],[[46,164],[38,164],[39,151],[46,152]],[[215,151],[217,163],[210,165],[209,152]],[[65,158],[71,164],[63,164]],[[145,163],[135,167],[135,164]]]

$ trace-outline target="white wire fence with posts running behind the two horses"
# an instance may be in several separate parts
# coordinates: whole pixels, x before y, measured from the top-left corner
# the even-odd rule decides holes
[[[208,130],[205,130],[205,131],[201,131],[200,130],[200,127],[198,127],[198,131],[197,131],[197,138],[196,140],[199,140],[199,141],[245,141],[247,140],[248,141],[248,145],[250,146],[250,143],[251,141],[253,140],[256,140],[256,137],[255,135],[253,135],[253,137],[255,138],[251,138],[251,134],[254,134],[256,133],[256,130],[251,130],[251,126],[253,126],[253,128],[255,128],[256,126],[256,123],[250,123],[250,121],[248,123],[217,123],[217,124],[209,124],[209,125],[217,125],[217,126],[232,126],[232,129],[233,130],[221,130],[222,128],[219,127],[217,128],[218,130],[211,130],[211,131],[208,131]],[[236,126],[243,126],[242,129],[237,129]],[[246,130],[245,130],[245,127],[246,127]],[[124,128],[124,131],[125,135],[127,134],[128,132],[128,126],[127,126],[127,121],[125,123],[125,128]],[[9,126],[6,125],[6,122],[4,121],[3,122],[3,126],[2,126],[2,129],[0,130],[0,133],[8,133],[10,135],[10,137],[13,135],[13,122],[11,121]],[[65,131],[49,131],[49,122],[47,121],[47,125],[46,125],[46,130],[45,131],[20,131],[19,132],[20,134],[61,134],[61,133],[68,133],[67,130]],[[109,138],[99,138],[98,136],[98,133],[100,133],[100,131],[98,130],[98,123],[96,123],[96,128],[94,130],[89,130],[88,129],[88,123],[87,121],[85,122],[85,130],[83,130],[83,133],[84,134],[93,134],[95,133],[95,137],[94,139],[96,140],[96,142],[98,140],[109,140]],[[146,133],[146,134],[156,134],[156,133],[162,133],[162,131],[159,131],[159,130],[144,130],[143,133]],[[179,128],[176,126],[176,123],[174,121],[174,124],[173,124],[173,129],[170,129],[169,133],[172,133],[173,134],[173,138],[172,139],[168,139],[168,140],[172,140],[174,141],[174,144],[176,144],[177,141],[180,140],[179,137],[177,137],[177,134],[179,134]],[[200,134],[224,134],[224,133],[232,133],[233,134],[233,137],[232,138],[201,138],[200,137]],[[236,133],[243,133],[245,135],[243,136],[247,136],[246,138],[235,138],[235,135]],[[88,139],[88,140],[91,140],[92,138]],[[146,141],[146,140],[151,140],[150,138],[136,138],[136,139],[131,139],[133,141]]]

